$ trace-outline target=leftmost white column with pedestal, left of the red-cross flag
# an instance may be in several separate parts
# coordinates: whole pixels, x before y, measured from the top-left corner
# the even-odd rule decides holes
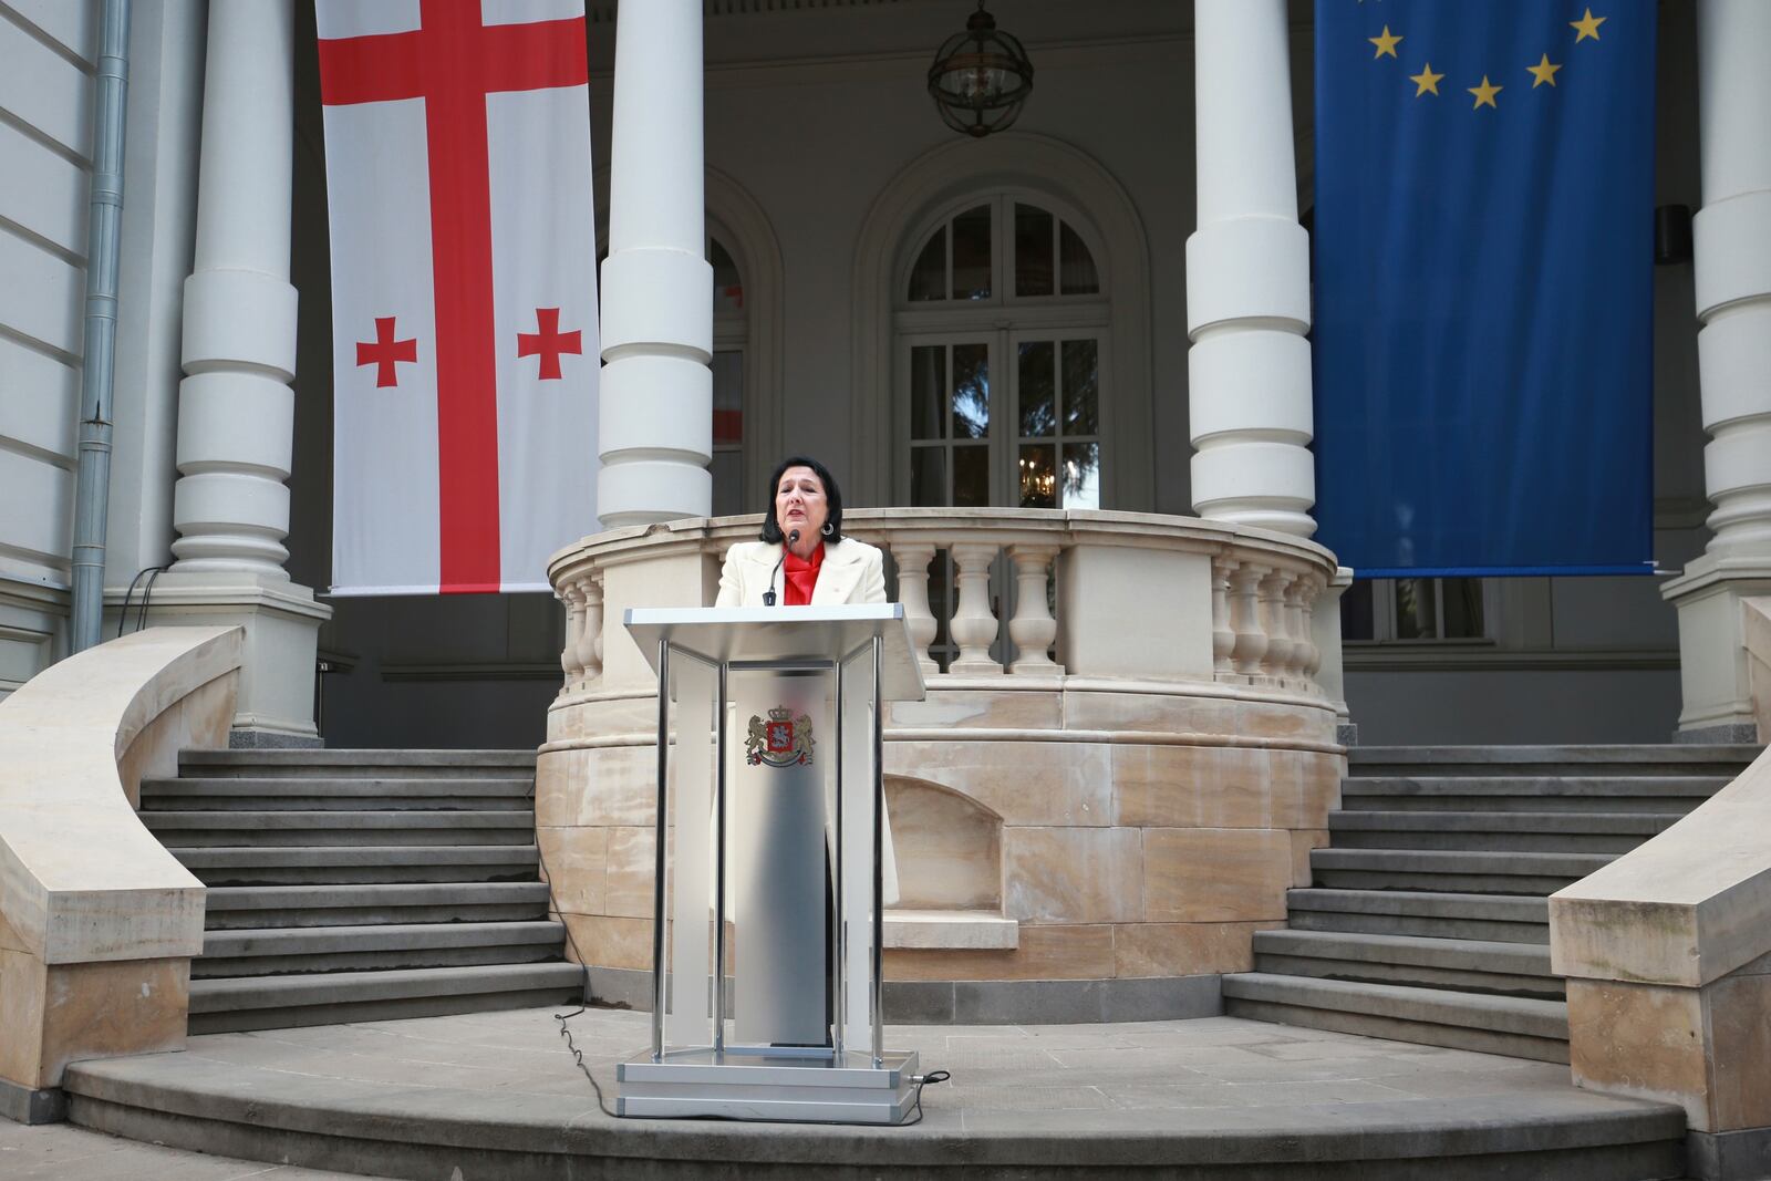
[[[209,5],[195,267],[184,282],[177,561],[154,621],[246,629],[236,745],[303,745],[331,614],[283,570],[294,450],[292,0]]]

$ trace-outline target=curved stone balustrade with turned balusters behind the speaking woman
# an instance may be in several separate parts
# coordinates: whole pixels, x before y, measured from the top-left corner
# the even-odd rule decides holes
[[[613,568],[692,565],[698,554],[712,583],[703,570],[703,593],[685,597],[710,606],[726,547],[754,538],[758,526],[760,517],[687,519],[561,551],[551,574],[567,611],[563,692],[593,691],[606,648],[623,641],[620,613],[604,609]],[[854,510],[845,529],[891,554],[896,600],[932,685],[1068,673],[1325,696],[1316,607],[1335,565],[1312,542],[1194,517],[1038,508]],[[937,556],[951,561],[955,584],[942,620],[930,595],[942,574]],[[947,659],[933,648],[942,623]]]

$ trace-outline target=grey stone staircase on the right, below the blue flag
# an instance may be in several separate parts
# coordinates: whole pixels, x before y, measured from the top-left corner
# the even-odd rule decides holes
[[[1757,747],[1355,747],[1312,884],[1226,1011],[1567,1062],[1548,896],[1677,822]]]

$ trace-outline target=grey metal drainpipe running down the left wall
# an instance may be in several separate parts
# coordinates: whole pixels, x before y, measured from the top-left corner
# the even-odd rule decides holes
[[[110,510],[112,374],[117,367],[117,262],[122,235],[122,133],[129,97],[129,0],[104,0],[99,103],[87,216],[87,333],[80,372],[80,475],[74,490],[73,650],[99,643]]]

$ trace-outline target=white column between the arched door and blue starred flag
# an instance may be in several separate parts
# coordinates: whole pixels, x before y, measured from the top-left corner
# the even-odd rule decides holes
[[[1195,0],[1199,228],[1187,239],[1194,508],[1309,536],[1309,234],[1286,0]]]

